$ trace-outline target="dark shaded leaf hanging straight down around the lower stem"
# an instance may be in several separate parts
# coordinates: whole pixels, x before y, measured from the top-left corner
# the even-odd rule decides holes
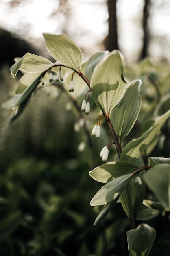
[[[138,174],[141,180],[142,180],[143,174],[144,174],[144,171],[142,171]],[[130,180],[127,189],[122,192],[122,194],[120,195],[120,198],[119,198],[119,200],[122,204],[122,207],[123,207],[124,211],[126,212],[129,219],[131,216],[131,210],[130,210],[130,205],[129,205],[128,193],[131,196],[131,204],[132,204],[132,208],[133,208],[134,218],[137,217],[137,214],[140,211],[140,207],[142,205],[142,202],[143,202],[144,196],[145,196],[145,189],[146,189],[145,183],[142,182],[142,184],[139,184],[137,182],[137,184],[135,184],[135,178],[136,178],[136,175],[135,175],[135,177],[133,177]]]

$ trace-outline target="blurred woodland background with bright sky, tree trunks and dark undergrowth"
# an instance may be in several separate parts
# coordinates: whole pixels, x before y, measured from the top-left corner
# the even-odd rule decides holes
[[[120,49],[127,65],[148,56],[168,74],[169,13],[169,0],[0,0],[0,105],[21,76],[10,74],[15,57],[31,52],[51,58],[43,32],[68,34],[84,59]],[[165,86],[169,90],[168,80]],[[85,134],[69,104],[55,90],[39,90],[10,125],[11,110],[0,108],[0,256],[128,255],[129,221],[120,204],[98,226],[99,209],[89,205],[101,184],[88,172],[102,164],[99,153],[109,133],[92,141],[94,155],[84,150]],[[87,119],[89,131],[95,118]],[[160,244],[169,256],[166,238]]]

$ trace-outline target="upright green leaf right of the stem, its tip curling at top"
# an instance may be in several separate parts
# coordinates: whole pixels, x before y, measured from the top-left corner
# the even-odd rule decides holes
[[[139,88],[141,80],[134,80],[129,85],[124,97],[111,111],[110,119],[119,142],[128,135],[135,124],[141,108]]]

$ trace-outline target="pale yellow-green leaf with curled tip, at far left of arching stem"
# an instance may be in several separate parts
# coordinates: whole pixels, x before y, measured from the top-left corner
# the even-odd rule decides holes
[[[11,67],[11,74],[15,77],[18,70],[34,74],[43,73],[53,66],[54,64],[47,58],[28,52]]]

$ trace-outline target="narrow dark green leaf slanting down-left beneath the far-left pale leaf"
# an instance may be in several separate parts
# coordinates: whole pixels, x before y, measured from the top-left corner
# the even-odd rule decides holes
[[[22,93],[21,97],[17,99],[17,101],[13,105],[13,108],[20,106],[22,103],[25,103],[30,99],[32,93],[35,91],[35,89],[39,85],[40,78],[41,78],[41,75],[38,76],[37,79],[35,79],[35,81],[33,81],[33,83],[28,88],[26,88],[26,90]]]

